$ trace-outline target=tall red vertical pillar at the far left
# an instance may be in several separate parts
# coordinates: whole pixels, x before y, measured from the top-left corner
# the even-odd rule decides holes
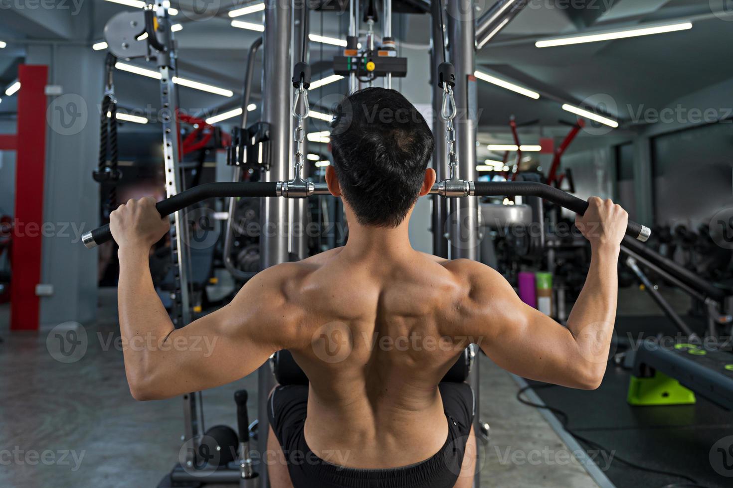
[[[45,86],[48,67],[18,67],[18,135],[15,158],[15,228],[12,235],[10,330],[37,330],[45,168]]]

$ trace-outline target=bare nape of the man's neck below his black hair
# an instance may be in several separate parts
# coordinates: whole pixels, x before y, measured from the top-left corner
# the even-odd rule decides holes
[[[349,239],[342,253],[353,258],[399,258],[413,252],[410,246],[408,219],[396,228],[349,225]]]

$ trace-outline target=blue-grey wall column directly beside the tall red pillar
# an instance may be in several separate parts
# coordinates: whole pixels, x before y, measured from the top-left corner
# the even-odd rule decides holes
[[[26,63],[47,64],[49,83],[64,93],[48,99],[55,116],[47,119],[43,213],[54,233],[43,238],[41,281],[53,285],[54,293],[41,299],[41,324],[91,323],[97,311],[97,252],[78,239],[99,223],[99,188],[92,170],[97,165],[103,65],[94,51],[73,45],[32,45]],[[81,116],[71,122],[71,113]]]

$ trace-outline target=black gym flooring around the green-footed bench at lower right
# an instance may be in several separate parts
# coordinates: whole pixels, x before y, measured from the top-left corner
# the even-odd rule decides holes
[[[699,319],[685,320],[702,330]],[[657,333],[674,336],[677,331],[663,317],[620,317],[616,333],[649,337]],[[616,461],[605,474],[617,487],[731,487],[732,479],[716,473],[709,456],[718,440],[733,435],[733,412],[699,396],[696,405],[632,407],[626,402],[629,378],[629,370],[609,362],[603,383],[595,391],[532,384],[539,385],[534,390],[546,405],[567,414],[568,427],[576,434],[626,461],[664,473],[681,473],[699,484],[685,484],[689,481]],[[602,458],[597,459],[603,463]]]

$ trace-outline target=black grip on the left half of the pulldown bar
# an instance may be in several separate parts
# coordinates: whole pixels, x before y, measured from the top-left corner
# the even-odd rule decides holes
[[[214,197],[276,197],[276,181],[243,181],[241,183],[205,183],[185,190],[171,198],[155,203],[155,209],[161,217],[170,215],[196,202]],[[112,240],[109,224],[93,229],[92,240],[97,246]]]

